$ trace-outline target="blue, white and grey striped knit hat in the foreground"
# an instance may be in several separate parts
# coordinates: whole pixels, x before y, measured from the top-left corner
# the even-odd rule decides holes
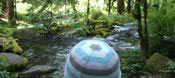
[[[67,58],[64,78],[121,78],[119,57],[103,41],[81,41]]]

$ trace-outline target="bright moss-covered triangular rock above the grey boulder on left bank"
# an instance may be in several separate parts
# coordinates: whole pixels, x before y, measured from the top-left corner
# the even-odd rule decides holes
[[[22,54],[23,53],[22,48],[19,46],[19,44],[16,42],[16,40],[13,39],[13,37],[9,37],[7,39],[7,41],[5,42],[5,46],[3,47],[3,51],[10,51],[10,52],[13,52],[15,54]]]

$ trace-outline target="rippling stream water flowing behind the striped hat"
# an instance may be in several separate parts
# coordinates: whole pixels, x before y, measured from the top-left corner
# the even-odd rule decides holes
[[[121,30],[121,29],[118,29]],[[123,28],[125,31],[125,29]],[[122,30],[122,31],[123,31]],[[128,29],[127,29],[128,30]],[[126,31],[128,32],[128,31]],[[122,33],[121,33],[122,35]],[[64,63],[71,48],[79,41],[96,37],[66,37],[53,34],[40,34],[36,32],[16,32],[14,37],[24,50],[24,55],[29,59],[28,67],[36,65],[49,65],[59,69],[54,74],[44,78],[61,78],[64,71]],[[116,38],[117,37],[117,38]],[[120,35],[110,35],[107,38],[97,38],[109,43],[117,50],[137,50],[139,47],[118,39]]]

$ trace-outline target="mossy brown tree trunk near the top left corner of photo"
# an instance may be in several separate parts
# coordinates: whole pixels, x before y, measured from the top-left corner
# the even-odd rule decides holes
[[[16,24],[16,16],[15,16],[15,4],[14,0],[7,0],[7,10],[6,15],[8,18],[8,22],[11,25]]]

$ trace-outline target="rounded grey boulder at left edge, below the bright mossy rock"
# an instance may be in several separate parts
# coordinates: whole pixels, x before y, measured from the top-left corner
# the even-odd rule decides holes
[[[0,61],[8,64],[9,71],[16,71],[26,67],[28,59],[13,53],[0,53]]]

